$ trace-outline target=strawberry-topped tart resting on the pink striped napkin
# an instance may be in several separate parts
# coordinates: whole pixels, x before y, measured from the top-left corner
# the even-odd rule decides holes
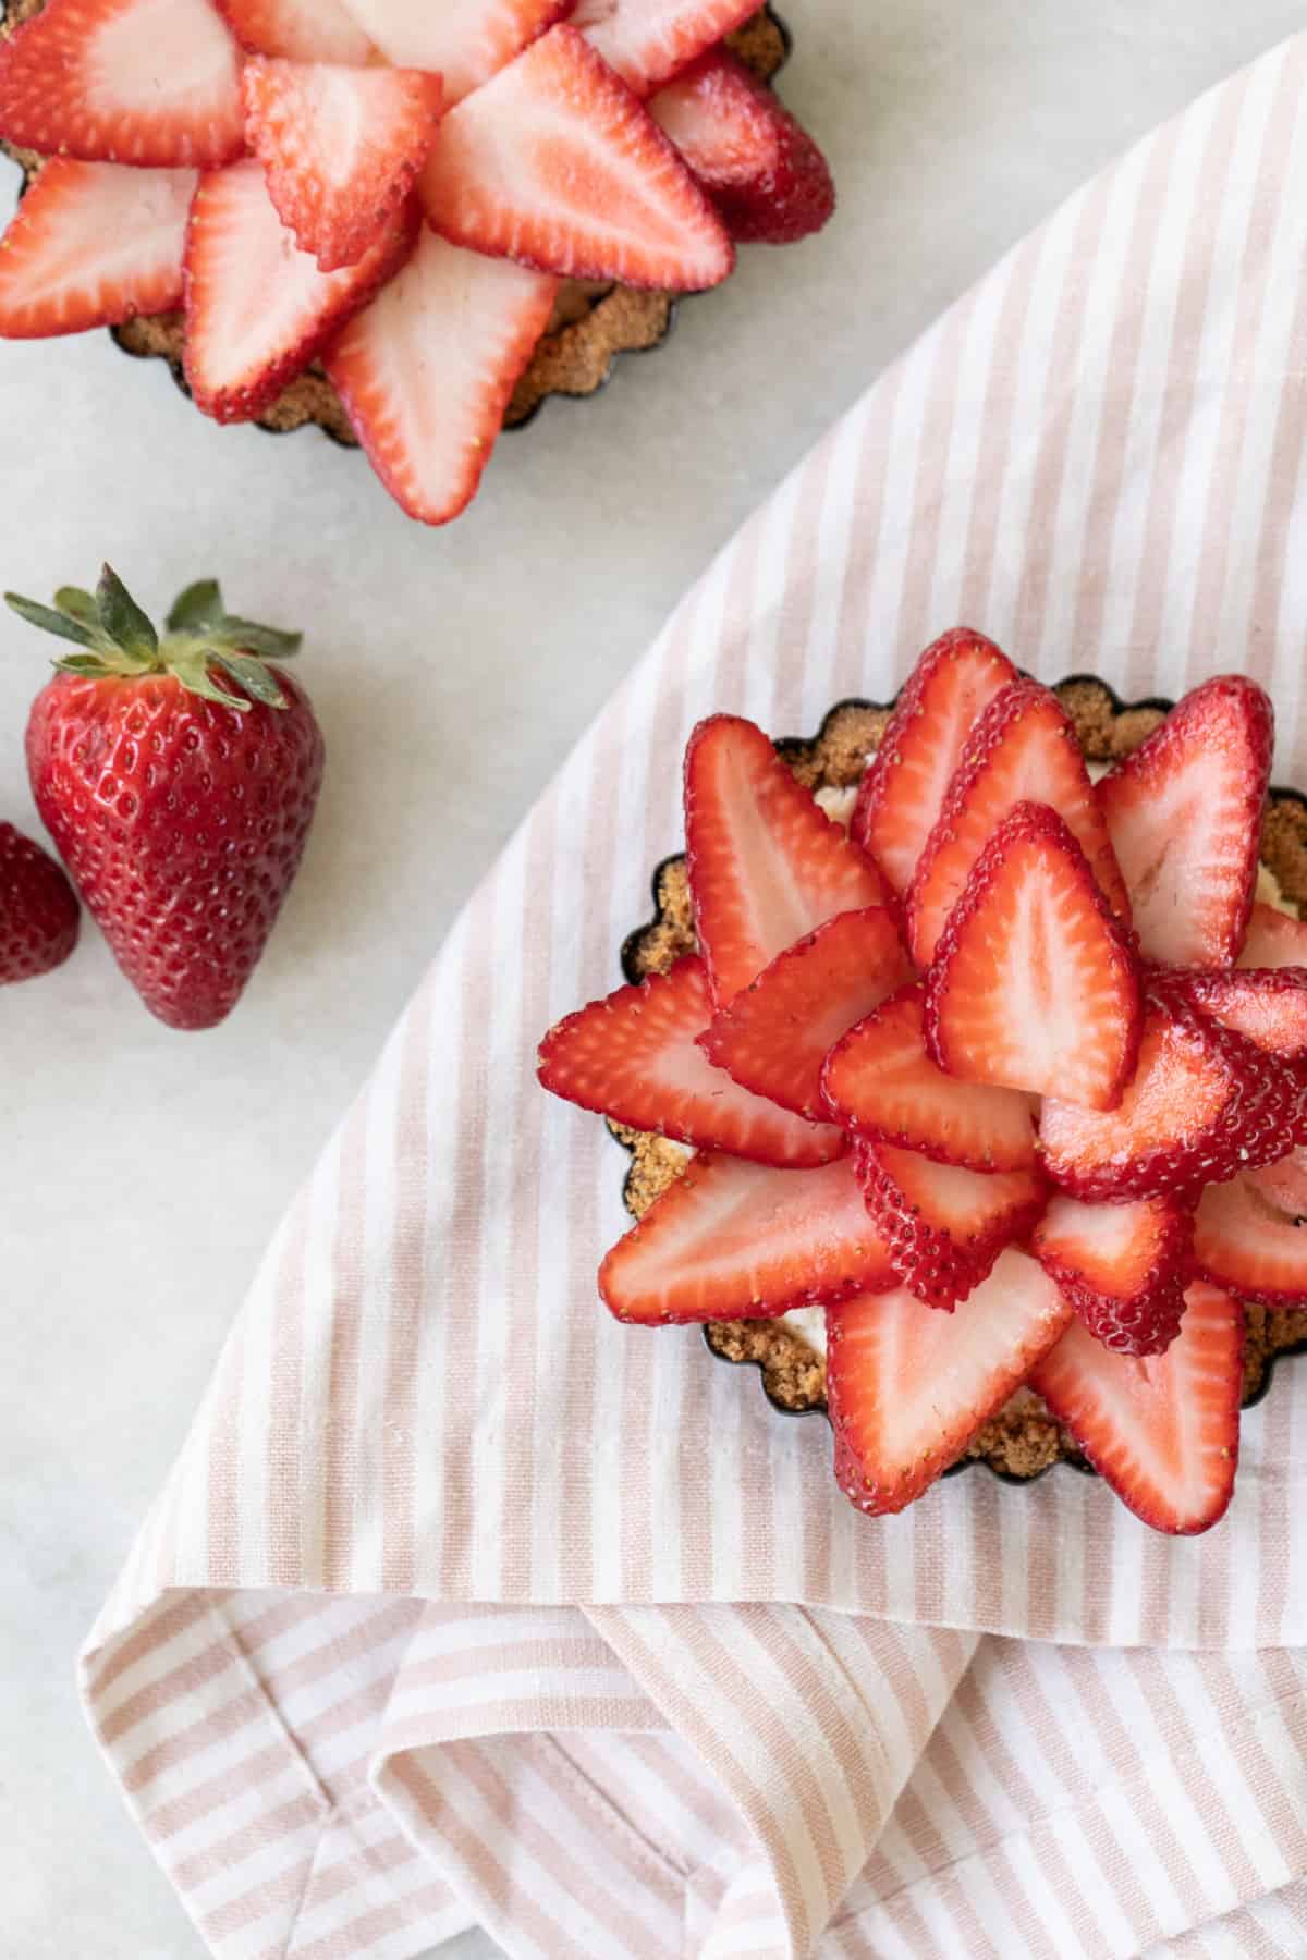
[[[899,1511],[970,1458],[1225,1513],[1307,1341],[1307,804],[1272,704],[1044,688],[984,635],[813,743],[686,753],[686,855],[545,1088],[633,1151],[600,1294],[702,1323]]]

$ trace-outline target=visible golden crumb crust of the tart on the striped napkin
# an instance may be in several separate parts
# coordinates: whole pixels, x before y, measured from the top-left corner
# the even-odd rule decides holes
[[[1091,676],[1062,680],[1056,694],[1066,708],[1089,762],[1131,755],[1168,713],[1170,702],[1123,704]],[[778,741],[796,778],[809,790],[848,790],[880,747],[892,708],[841,702],[811,741]],[[1262,827],[1262,862],[1293,909],[1307,902],[1307,798],[1272,788]],[[698,947],[690,909],[684,857],[658,864],[653,880],[654,915],[621,949],[627,980],[666,972]],[[686,1164],[686,1151],[645,1131],[609,1123],[631,1152],[623,1188],[627,1211],[643,1217]],[[784,1415],[825,1413],[825,1358],[784,1321],[709,1321],[703,1337],[721,1360],[760,1370],[768,1401]],[[1276,1356],[1307,1347],[1307,1307],[1258,1307],[1244,1303],[1244,1407],[1270,1386]],[[1088,1472],[1074,1443],[1035,1394],[1021,1390],[972,1441],[954,1470],[984,1462],[997,1476],[1025,1482],[1056,1462]]]

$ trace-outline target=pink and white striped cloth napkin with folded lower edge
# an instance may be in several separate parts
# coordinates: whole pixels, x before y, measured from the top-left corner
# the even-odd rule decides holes
[[[531,1074],[713,708],[811,731],[970,619],[1127,696],[1246,668],[1307,784],[1305,82],[1140,143],[782,484],[327,1147],[82,1656],[223,1960],[1307,1950],[1307,1360],[1201,1541],[1066,1470],[870,1523],[825,1425],[600,1309],[621,1156]]]

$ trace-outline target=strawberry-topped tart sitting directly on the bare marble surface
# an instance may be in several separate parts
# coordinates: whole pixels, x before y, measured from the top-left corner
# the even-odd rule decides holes
[[[4,0],[0,0],[0,8]],[[500,429],[835,206],[756,0],[10,0],[0,337],[114,327],[447,523]]]

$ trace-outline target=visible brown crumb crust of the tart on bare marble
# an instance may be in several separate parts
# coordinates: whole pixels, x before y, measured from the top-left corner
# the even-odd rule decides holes
[[[31,14],[43,0],[0,0],[0,37]],[[743,27],[727,35],[729,47],[752,73],[770,82],[790,55],[790,35],[770,8],[762,8]],[[24,171],[25,184],[41,169],[41,157],[0,141],[0,151]],[[645,353],[666,339],[676,310],[674,292],[647,292],[635,286],[564,280],[549,329],[521,374],[504,414],[504,427],[517,429],[531,419],[551,394],[594,394],[609,378],[623,353]],[[110,329],[118,345],[145,361],[167,361],[182,394],[182,314],[155,314]],[[357,447],[341,398],[317,363],[290,382],[286,392],[259,416],[259,427],[286,433],[315,423],[337,443]]]

